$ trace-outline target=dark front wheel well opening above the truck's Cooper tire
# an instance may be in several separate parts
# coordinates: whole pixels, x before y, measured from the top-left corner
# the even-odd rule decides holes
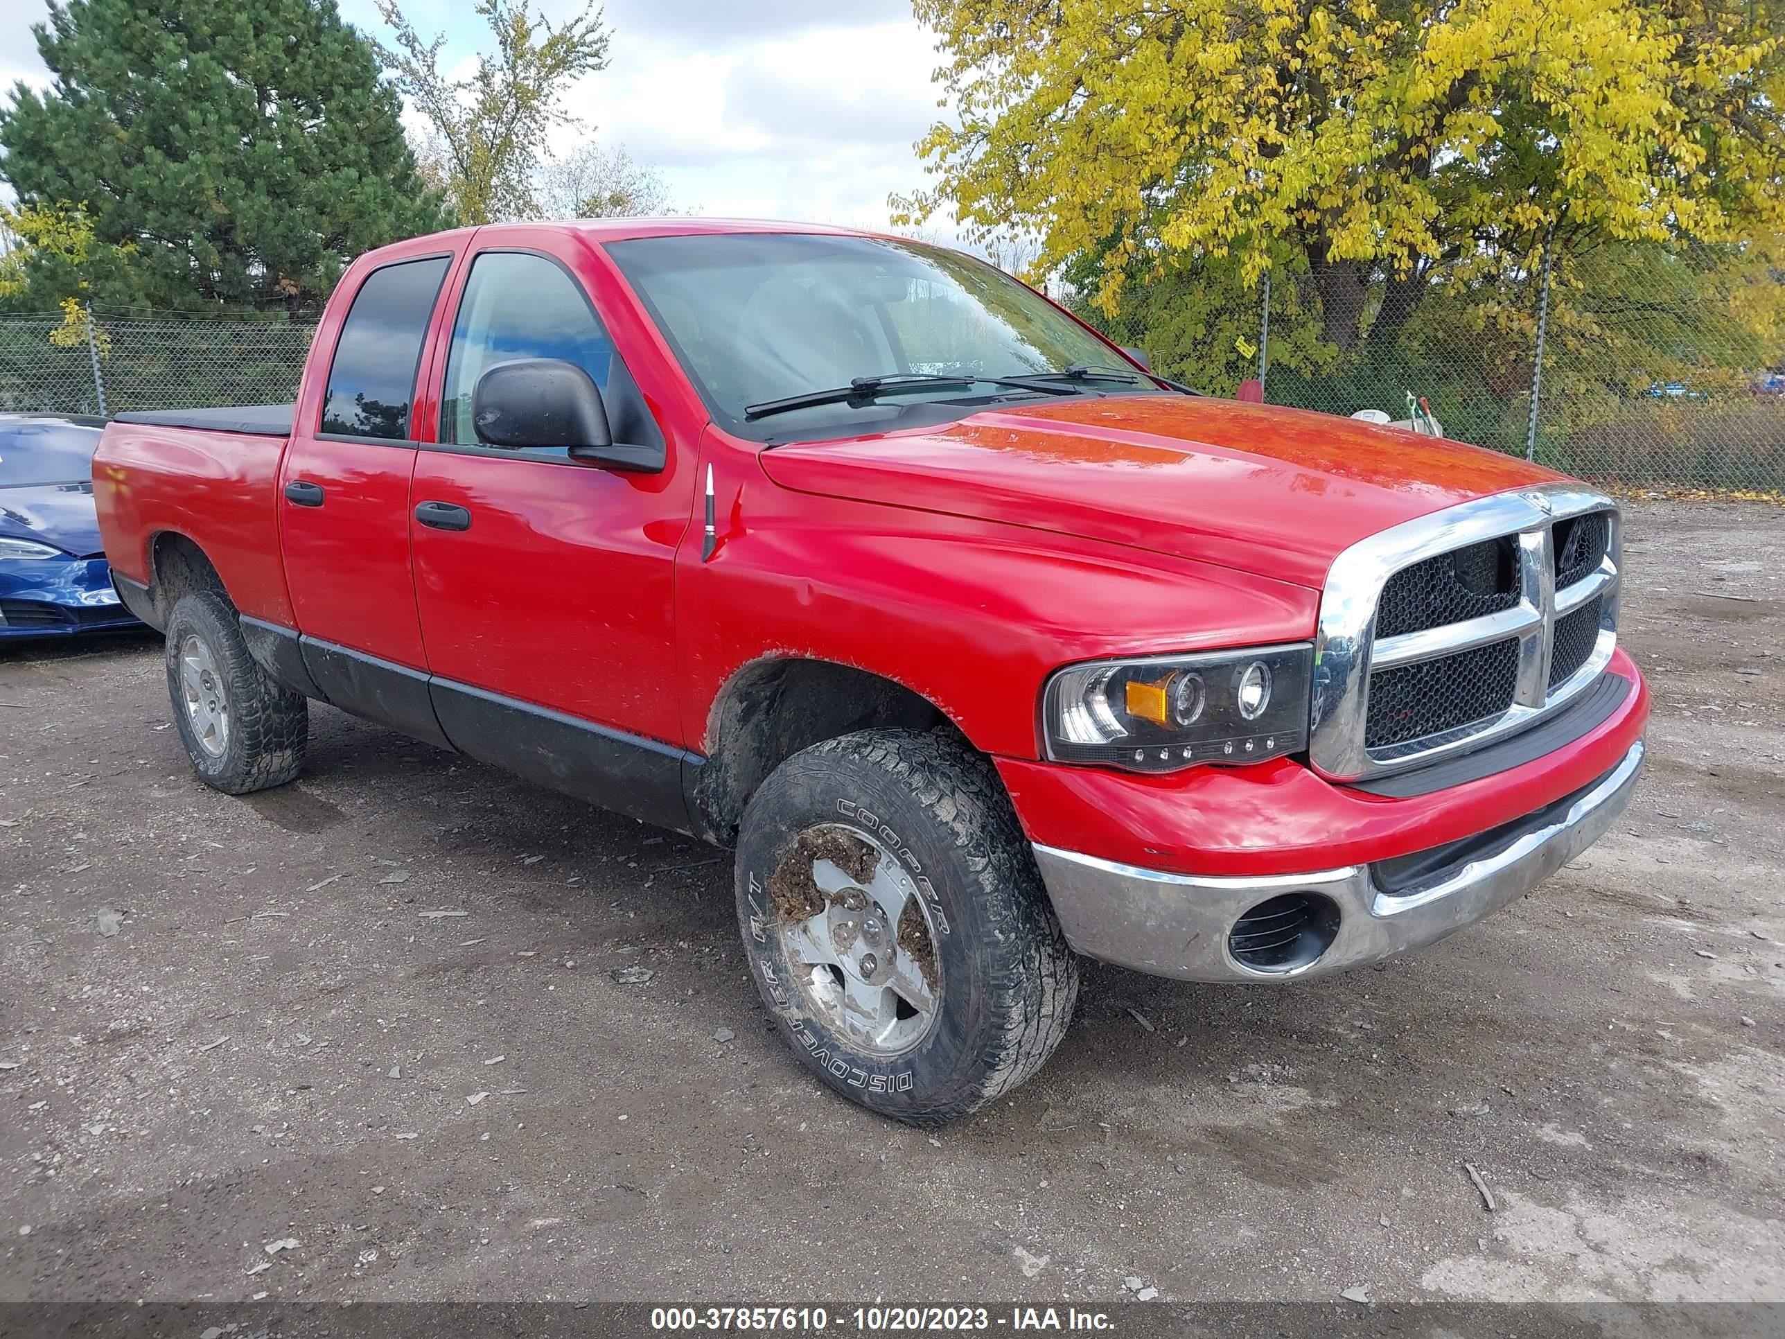
[[[773,657],[746,664],[707,718],[707,764],[693,796],[702,836],[730,846],[744,805],[775,768],[801,748],[873,728],[962,737],[935,703],[884,675],[834,661]]]

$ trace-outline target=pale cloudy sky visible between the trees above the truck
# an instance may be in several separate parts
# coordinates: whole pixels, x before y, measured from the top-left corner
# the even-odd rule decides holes
[[[339,4],[350,23],[386,36],[373,0]],[[941,59],[909,0],[603,7],[610,64],[569,107],[596,139],[655,166],[680,212],[884,227],[887,196],[925,184],[912,143],[941,116],[930,82]],[[577,4],[543,9],[562,20]],[[469,4],[409,0],[403,11],[419,32],[446,34],[448,68],[482,45]],[[43,0],[0,0],[0,87],[48,84],[30,39],[45,12]]]

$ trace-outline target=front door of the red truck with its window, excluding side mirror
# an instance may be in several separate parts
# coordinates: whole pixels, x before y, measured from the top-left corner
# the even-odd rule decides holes
[[[469,257],[450,298],[439,441],[411,487],[436,712],[473,757],[685,827],[671,578],[693,461],[669,448],[591,296],[593,248],[557,230],[502,243]],[[477,382],[512,359],[580,366],[614,441],[659,452],[662,470],[486,445]]]

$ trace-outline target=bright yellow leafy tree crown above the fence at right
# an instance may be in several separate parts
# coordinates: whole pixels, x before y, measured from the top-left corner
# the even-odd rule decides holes
[[[951,118],[900,200],[1041,237],[1105,311],[1185,261],[1348,350],[1442,282],[1785,223],[1769,0],[916,0]],[[1091,257],[1092,264],[1087,264]]]

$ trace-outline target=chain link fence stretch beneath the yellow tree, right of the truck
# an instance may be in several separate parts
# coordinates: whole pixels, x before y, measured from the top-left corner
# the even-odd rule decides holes
[[[1765,320],[1785,279],[1628,254],[1546,279],[1378,284],[1344,346],[1308,320],[1310,286],[1285,280],[1246,302],[1166,282],[1116,314],[1073,305],[1212,395],[1374,411],[1623,491],[1785,493],[1785,341]]]

